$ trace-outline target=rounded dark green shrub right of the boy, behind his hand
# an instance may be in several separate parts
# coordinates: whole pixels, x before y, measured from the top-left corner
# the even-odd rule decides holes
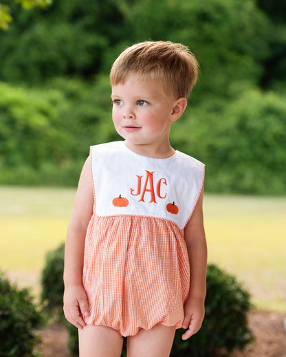
[[[247,320],[251,308],[248,291],[214,264],[208,264],[206,283],[206,317],[201,330],[186,341],[181,340],[185,330],[177,330],[170,357],[228,355],[253,340]]]

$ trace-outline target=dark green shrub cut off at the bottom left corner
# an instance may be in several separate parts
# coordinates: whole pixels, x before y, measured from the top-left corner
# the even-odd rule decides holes
[[[19,289],[0,273],[0,356],[32,357],[43,318],[28,289]]]

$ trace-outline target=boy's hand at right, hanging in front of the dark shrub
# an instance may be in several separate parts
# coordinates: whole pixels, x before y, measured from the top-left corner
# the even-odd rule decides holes
[[[205,316],[204,299],[188,298],[184,303],[184,314],[182,325],[183,328],[188,328],[188,331],[181,338],[187,340],[201,328]]]

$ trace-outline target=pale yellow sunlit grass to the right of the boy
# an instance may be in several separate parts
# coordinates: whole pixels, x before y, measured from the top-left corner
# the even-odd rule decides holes
[[[286,310],[286,199],[205,199],[209,261],[243,281],[261,308]]]

